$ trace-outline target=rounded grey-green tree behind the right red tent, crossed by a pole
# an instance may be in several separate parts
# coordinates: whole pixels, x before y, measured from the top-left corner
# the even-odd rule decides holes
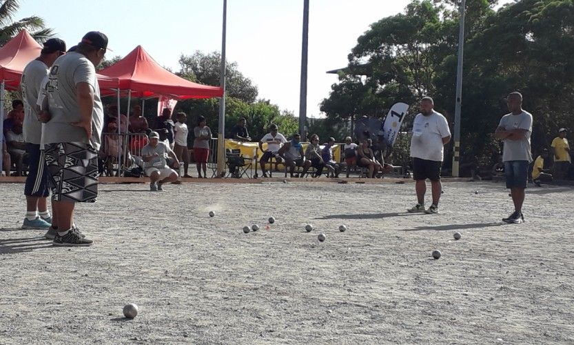
[[[257,86],[238,70],[236,62],[226,62],[226,92],[227,97],[241,99],[247,103],[254,103],[257,99]],[[211,52],[204,54],[196,51],[194,55],[181,55],[181,67],[178,75],[197,83],[218,86],[220,83],[221,54]]]

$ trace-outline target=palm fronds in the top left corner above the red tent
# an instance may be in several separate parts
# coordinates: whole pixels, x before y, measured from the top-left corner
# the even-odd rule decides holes
[[[45,22],[41,17],[32,16],[14,21],[14,14],[18,12],[20,3],[18,0],[4,0],[0,5],[0,46],[10,41],[21,30],[28,30],[32,37],[39,43],[43,43],[54,34],[54,30],[45,28]]]

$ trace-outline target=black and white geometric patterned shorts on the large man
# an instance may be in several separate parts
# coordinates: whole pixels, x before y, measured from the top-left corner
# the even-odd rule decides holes
[[[95,202],[98,196],[98,152],[81,142],[45,145],[52,199]]]

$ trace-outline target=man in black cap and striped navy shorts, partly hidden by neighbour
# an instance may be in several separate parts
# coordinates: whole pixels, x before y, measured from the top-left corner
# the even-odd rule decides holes
[[[20,86],[24,103],[23,136],[28,152],[28,177],[24,187],[26,215],[22,228],[47,229],[52,224],[46,197],[48,171],[45,168],[43,147],[41,147],[42,123],[39,121],[40,108],[36,102],[40,94],[40,84],[48,75],[54,61],[65,54],[65,42],[61,39],[48,39],[37,59],[25,66]]]

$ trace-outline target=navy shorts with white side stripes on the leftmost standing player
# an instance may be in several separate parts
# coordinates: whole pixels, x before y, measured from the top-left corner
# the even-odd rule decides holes
[[[24,186],[24,195],[27,197],[48,197],[48,167],[45,163],[44,151],[40,145],[26,144],[28,152],[28,177]]]

